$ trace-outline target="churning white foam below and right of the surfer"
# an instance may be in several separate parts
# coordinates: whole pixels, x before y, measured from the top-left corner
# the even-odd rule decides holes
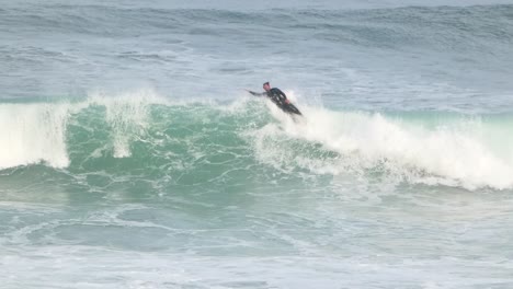
[[[308,155],[289,155],[293,160],[297,158],[295,165],[319,173],[339,174],[349,167],[353,171],[383,167],[381,171],[389,175],[414,183],[457,185],[469,189],[513,187],[513,163],[508,155],[501,157],[487,143],[485,136],[489,136],[489,132],[481,131],[487,129],[486,126],[459,123],[429,129],[419,124],[392,120],[377,113],[301,108],[307,116],[305,124],[296,124],[271,107],[282,129],[274,124],[253,134],[261,160],[275,166],[283,164],[282,161],[290,161],[280,158],[289,154],[287,146],[269,147],[269,139],[276,140],[285,134],[321,143],[326,150],[341,154],[339,162],[323,161],[322,164]]]

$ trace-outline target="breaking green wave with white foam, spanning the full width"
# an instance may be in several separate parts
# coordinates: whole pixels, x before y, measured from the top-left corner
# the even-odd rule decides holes
[[[193,180],[263,165],[306,176],[513,187],[512,114],[343,112],[300,101],[299,106],[307,117],[295,123],[250,99],[179,102],[152,91],[2,103],[0,167],[43,163],[71,173],[153,177],[187,172]]]

